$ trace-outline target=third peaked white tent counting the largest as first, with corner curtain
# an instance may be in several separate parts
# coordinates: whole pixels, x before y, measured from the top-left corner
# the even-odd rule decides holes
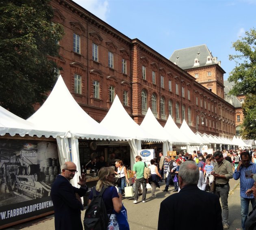
[[[163,126],[156,120],[150,108],[148,108],[140,127],[152,135],[157,135],[157,137],[163,141],[163,155],[165,156],[167,151],[169,151],[169,133],[167,133]]]

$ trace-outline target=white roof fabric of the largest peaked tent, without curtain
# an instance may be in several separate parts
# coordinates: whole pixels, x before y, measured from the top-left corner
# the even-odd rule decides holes
[[[70,94],[61,75],[43,105],[27,121],[67,137],[123,140],[91,118]]]

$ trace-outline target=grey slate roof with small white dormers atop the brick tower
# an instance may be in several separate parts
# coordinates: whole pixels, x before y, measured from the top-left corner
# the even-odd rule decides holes
[[[210,62],[207,62],[208,56],[211,58]],[[196,66],[194,66],[195,58],[199,60],[199,64]],[[217,64],[217,57],[213,57],[212,53],[205,44],[184,49],[177,49],[173,52],[169,60],[176,63],[178,67],[182,69],[193,69]]]

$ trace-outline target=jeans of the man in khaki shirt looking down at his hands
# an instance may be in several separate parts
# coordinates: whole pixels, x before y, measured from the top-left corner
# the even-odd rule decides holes
[[[224,185],[223,187],[217,187],[215,190],[215,194],[221,198],[221,206],[222,206],[222,223],[228,224],[228,193],[229,193],[229,184]]]

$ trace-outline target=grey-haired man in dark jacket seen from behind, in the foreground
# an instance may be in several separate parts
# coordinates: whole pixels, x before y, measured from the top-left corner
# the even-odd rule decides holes
[[[199,170],[195,162],[182,162],[179,169],[180,192],[161,202],[158,230],[223,230],[219,198],[197,187]],[[184,219],[184,214],[205,213],[207,217]],[[209,218],[210,221],[209,221]],[[168,220],[168,221],[167,221]]]

